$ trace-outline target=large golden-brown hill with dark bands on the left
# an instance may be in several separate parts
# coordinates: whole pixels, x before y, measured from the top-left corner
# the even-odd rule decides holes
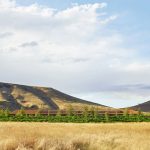
[[[94,106],[106,110],[110,107],[85,101],[53,88],[0,83],[0,109],[67,109],[70,105],[80,110]]]

